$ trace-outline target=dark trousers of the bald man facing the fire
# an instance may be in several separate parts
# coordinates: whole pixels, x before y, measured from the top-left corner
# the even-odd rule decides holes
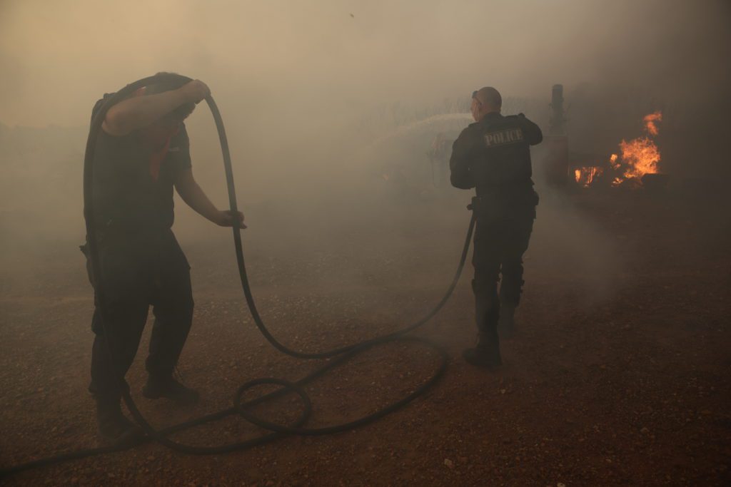
[[[475,321],[481,334],[497,333],[500,303],[517,306],[523,291],[523,253],[533,231],[535,205],[507,212],[491,212],[476,207],[474,231]],[[498,283],[502,275],[500,293]]]

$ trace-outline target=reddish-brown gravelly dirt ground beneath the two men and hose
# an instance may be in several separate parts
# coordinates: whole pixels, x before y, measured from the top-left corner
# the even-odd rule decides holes
[[[418,217],[338,221],[310,239],[298,237],[305,223],[281,216],[276,243],[267,238],[273,226],[257,233],[262,225],[249,210],[251,283],[273,333],[293,348],[322,350],[422,315],[452,277],[469,218],[463,207],[439,210],[442,203],[423,203]],[[180,372],[203,400],[181,410],[141,397],[141,345],[128,380],[158,427],[229,407],[235,389],[254,377],[295,380],[318,365],[283,356],[255,329],[230,235],[192,233],[178,233],[196,297]],[[86,392],[91,292],[80,253],[52,242],[3,257],[24,271],[6,273],[0,283],[2,467],[96,445]],[[461,359],[475,335],[468,267],[444,310],[417,332],[447,349],[446,374],[386,418],[217,456],[147,444],[2,483],[730,485],[730,248],[727,207],[709,199],[645,191],[545,197],[526,255],[519,334],[502,343],[499,371]],[[420,345],[370,350],[308,386],[308,426],[349,421],[393,402],[437,363]],[[287,404],[280,416],[292,418],[299,404]],[[216,445],[258,434],[228,418],[175,439]]]

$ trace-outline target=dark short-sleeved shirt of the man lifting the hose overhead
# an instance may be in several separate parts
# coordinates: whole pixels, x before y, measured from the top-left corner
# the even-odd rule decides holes
[[[109,95],[105,95],[105,98]],[[96,110],[103,100],[96,102]],[[173,181],[192,166],[185,124],[170,139],[159,171],[139,131],[121,137],[99,131],[94,151],[94,220],[97,229],[143,231],[173,226]]]

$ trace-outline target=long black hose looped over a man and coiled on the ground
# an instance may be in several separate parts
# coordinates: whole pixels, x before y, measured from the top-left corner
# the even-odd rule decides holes
[[[96,299],[99,306],[99,310],[102,315],[102,326],[105,326],[105,323],[107,323],[106,320],[106,313],[107,310],[105,309],[105,294],[104,294],[104,286],[102,283],[104,282],[103,276],[101,275],[101,266],[99,265],[99,249],[97,247],[98,242],[96,241],[96,233],[94,229],[94,199],[93,199],[93,188],[92,188],[92,181],[94,177],[94,150],[96,148],[96,138],[99,134],[99,130],[102,127],[102,121],[105,119],[105,116],[107,114],[107,111],[112,107],[114,104],[118,103],[119,101],[125,99],[127,96],[132,94],[134,91],[136,91],[138,88],[142,88],[143,86],[147,85],[153,85],[156,83],[164,83],[164,82],[178,82],[178,83],[186,83],[190,81],[191,78],[184,77],[179,74],[157,74],[155,76],[146,77],[142,80],[138,80],[135,83],[131,83],[129,85],[126,85],[126,87],[122,88],[117,93],[110,96],[105,103],[102,105],[102,107],[99,109],[98,112],[96,112],[96,115],[94,115],[94,119],[91,121],[91,129],[89,130],[88,139],[86,142],[86,154],[84,156],[84,215],[86,217],[86,235],[88,239],[88,246],[89,246],[89,253],[91,258],[91,269],[94,276],[94,283],[96,283]],[[233,172],[232,172],[232,166],[231,166],[231,156],[229,152],[228,147],[228,141],[226,138],[226,131],[224,129],[224,123],[221,119],[221,113],[219,112],[218,107],[216,106],[216,102],[213,101],[212,96],[208,96],[205,101],[208,103],[208,107],[211,109],[211,113],[213,114],[213,120],[216,123],[216,129],[219,133],[219,139],[221,142],[221,152],[223,153],[224,158],[224,169],[226,172],[226,182],[228,187],[228,194],[229,194],[229,205],[230,210],[232,212],[236,212],[237,210],[237,204],[236,204],[236,191],[235,186],[233,182]],[[376,337],[371,340],[366,340],[364,342],[357,342],[352,345],[346,345],[341,348],[336,348],[334,350],[328,350],[325,352],[317,352],[317,353],[307,353],[307,352],[301,352],[298,350],[292,350],[291,348],[288,348],[285,345],[282,345],[281,342],[276,340],[275,337],[270,333],[270,331],[265,326],[264,322],[262,321],[261,316],[259,315],[259,312],[257,311],[256,304],[254,302],[254,296],[251,294],[251,286],[249,285],[249,278],[246,275],[246,265],[244,263],[243,258],[243,249],[241,245],[241,234],[240,234],[240,228],[238,227],[238,221],[234,219],[234,228],[233,228],[233,239],[234,239],[234,248],[236,253],[236,260],[238,262],[238,271],[239,276],[241,280],[241,286],[243,288],[243,293],[246,296],[246,303],[249,305],[249,311],[251,312],[252,318],[254,318],[254,323],[256,323],[257,328],[261,333],[264,335],[264,337],[270,342],[273,347],[275,347],[277,350],[281,351],[282,353],[286,353],[289,356],[297,357],[297,358],[333,358],[336,357],[334,360],[329,361],[325,366],[320,367],[319,369],[315,369],[314,372],[311,372],[306,377],[301,378],[300,380],[297,380],[296,382],[289,382],[288,380],[281,380],[281,379],[274,379],[274,378],[262,378],[262,379],[256,379],[251,380],[248,383],[243,384],[243,386],[240,386],[238,388],[238,391],[235,394],[234,398],[234,405],[228,409],[218,411],[216,413],[211,413],[208,415],[200,416],[199,418],[194,418],[190,421],[186,421],[184,423],[179,423],[175,426],[170,426],[165,429],[156,430],[154,429],[150,423],[144,418],[142,413],[140,413],[140,410],[137,409],[137,405],[135,404],[135,401],[132,399],[132,396],[129,394],[129,385],[126,383],[126,380],[124,379],[124,375],[118,373],[119,380],[121,382],[122,386],[122,397],[124,399],[124,402],[129,409],[129,412],[132,414],[132,418],[135,419],[135,421],[143,428],[145,433],[147,434],[147,437],[140,438],[140,440],[137,440],[134,444],[126,444],[126,445],[115,445],[105,448],[92,448],[87,450],[77,450],[75,452],[71,453],[64,453],[57,456],[51,456],[45,459],[39,459],[36,461],[31,461],[26,464],[20,464],[15,467],[8,467],[4,469],[0,469],[0,477],[4,477],[6,475],[11,475],[17,472],[22,472],[24,470],[34,469],[37,467],[42,467],[49,464],[55,464],[59,463],[61,461],[68,461],[73,459],[82,459],[88,456],[94,456],[99,455],[102,453],[112,453],[115,451],[121,451],[126,450],[129,448],[133,448],[137,445],[140,445],[144,442],[148,441],[156,441],[161,443],[162,445],[167,446],[168,448],[172,448],[173,450],[177,450],[183,453],[189,453],[194,455],[205,455],[205,454],[218,454],[218,453],[227,453],[234,450],[243,450],[245,448],[251,448],[255,445],[261,445],[262,443],[269,442],[271,440],[275,440],[276,438],[283,437],[287,434],[298,434],[298,435],[319,435],[319,434],[333,434],[338,432],[344,432],[348,431],[350,429],[355,428],[356,426],[362,426],[363,424],[370,423],[371,421],[375,421],[378,418],[382,418],[383,416],[393,413],[393,411],[397,410],[398,408],[404,406],[404,404],[407,404],[408,402],[411,402],[413,399],[415,399],[417,396],[420,396],[421,394],[424,394],[425,391],[427,391],[428,388],[433,386],[434,383],[436,383],[437,380],[439,380],[440,377],[442,377],[442,374],[444,373],[444,370],[447,367],[447,353],[446,351],[439,347],[439,345],[436,345],[435,343],[426,340],[421,337],[413,337],[413,336],[406,336],[406,333],[409,331],[413,331],[414,329],[417,329],[419,326],[422,326],[427,321],[431,320],[431,318],[436,315],[439,310],[444,307],[444,304],[447,302],[447,299],[450,298],[452,295],[452,292],[455,289],[455,286],[458,283],[459,277],[461,275],[462,269],[464,268],[464,264],[467,258],[467,253],[469,251],[469,245],[471,242],[472,232],[474,231],[474,223],[475,223],[475,215],[474,212],[472,213],[472,217],[469,223],[469,229],[467,231],[467,236],[462,248],[462,255],[459,261],[459,265],[457,267],[457,272],[455,272],[455,276],[452,279],[452,283],[450,284],[449,288],[447,288],[447,292],[444,294],[442,299],[436,304],[433,309],[428,312],[423,318],[416,321],[415,323],[412,323],[409,326],[406,326],[403,329],[399,329],[398,331],[393,331],[392,333],[385,334],[382,337]],[[105,332],[105,337],[109,337],[109,334]],[[334,367],[337,367],[340,364],[343,364],[345,361],[348,361],[350,358],[355,356],[357,353],[361,353],[365,350],[368,350],[374,345],[379,345],[386,342],[417,342],[422,345],[427,345],[433,350],[436,350],[439,353],[439,356],[441,357],[441,363],[439,364],[439,367],[436,369],[436,372],[432,375],[432,377],[427,380],[425,383],[423,383],[418,388],[414,389],[410,394],[405,396],[402,399],[399,399],[397,402],[393,402],[392,404],[388,404],[387,406],[383,407],[381,410],[376,411],[376,413],[372,413],[370,415],[366,415],[363,418],[359,418],[355,421],[350,421],[349,423],[343,423],[336,426],[327,426],[324,428],[317,428],[317,429],[310,429],[303,427],[306,421],[308,420],[311,412],[312,412],[312,405],[310,402],[310,399],[306,392],[303,389],[303,385],[310,382],[311,380],[314,380],[315,378],[325,374],[330,369],[333,369]],[[107,342],[107,348],[110,351],[110,354],[113,353],[113,348],[109,346],[110,344]],[[113,363],[117,363],[117,361],[113,360]],[[255,386],[260,386],[262,384],[270,384],[270,385],[278,385],[281,386],[281,388],[276,389],[273,392],[270,392],[268,394],[265,394],[264,396],[260,396],[256,399],[250,399],[246,402],[242,402],[242,396],[243,394],[249,390],[250,388],[253,388]],[[269,421],[262,420],[260,418],[257,418],[256,416],[249,413],[249,408],[256,404],[260,404],[262,402],[265,402],[269,399],[273,399],[274,397],[282,396],[284,394],[289,393],[295,393],[297,394],[302,403],[303,403],[303,410],[300,415],[300,418],[298,418],[297,421],[292,423],[291,425],[281,425],[276,423],[271,423]],[[173,440],[170,440],[168,437],[171,434],[174,434],[176,432],[181,432],[185,429],[190,429],[194,426],[200,426],[204,423],[209,423],[211,421],[217,421],[222,418],[225,418],[229,415],[238,414],[241,415],[243,418],[245,418],[247,421],[254,423],[257,426],[260,426],[264,429],[270,430],[270,434],[265,434],[262,437],[256,437],[252,438],[250,440],[245,440],[241,442],[233,442],[226,445],[219,445],[219,446],[213,446],[213,447],[200,447],[200,446],[193,446],[193,445],[184,445],[179,442],[175,442]]]

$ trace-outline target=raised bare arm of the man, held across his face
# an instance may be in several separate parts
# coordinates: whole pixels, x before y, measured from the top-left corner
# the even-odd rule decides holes
[[[110,135],[126,135],[163,118],[184,103],[198,103],[210,93],[211,90],[205,83],[193,80],[177,90],[135,96],[111,107],[102,123],[102,129]]]

